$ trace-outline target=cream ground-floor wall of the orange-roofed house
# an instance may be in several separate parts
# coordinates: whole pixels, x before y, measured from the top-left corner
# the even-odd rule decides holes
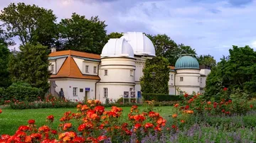
[[[95,83],[96,80],[87,80],[87,79],[51,79],[55,80],[57,87],[55,88],[56,92],[60,91],[60,88],[63,88],[65,98],[70,100],[77,99],[82,101],[85,98],[85,88],[90,88],[90,91],[87,92],[87,99],[95,98]],[[78,88],[78,96],[73,96],[73,87]],[[82,92],[80,92],[82,88]]]

